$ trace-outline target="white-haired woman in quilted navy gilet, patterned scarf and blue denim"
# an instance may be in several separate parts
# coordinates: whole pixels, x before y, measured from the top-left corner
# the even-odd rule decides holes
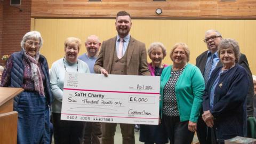
[[[52,93],[48,63],[39,53],[42,44],[38,31],[25,34],[21,51],[11,54],[2,75],[1,86],[24,89],[14,98],[13,109],[18,111],[17,143],[50,143]]]

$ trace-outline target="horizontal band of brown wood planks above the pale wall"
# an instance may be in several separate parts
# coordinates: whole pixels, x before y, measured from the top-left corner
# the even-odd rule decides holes
[[[163,10],[157,15],[155,10]],[[115,18],[116,13],[126,10],[137,18],[256,18],[255,0],[32,0],[31,17],[65,18]]]

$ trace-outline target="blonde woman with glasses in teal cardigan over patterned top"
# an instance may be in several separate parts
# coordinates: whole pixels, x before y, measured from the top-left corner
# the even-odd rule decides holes
[[[164,68],[161,75],[160,109],[170,143],[191,143],[196,131],[202,105],[204,78],[201,71],[189,61],[185,43],[174,45],[173,65]]]

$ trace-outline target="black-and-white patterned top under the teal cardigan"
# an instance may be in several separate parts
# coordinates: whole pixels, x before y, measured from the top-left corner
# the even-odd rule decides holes
[[[175,94],[175,85],[185,67],[180,70],[171,70],[171,77],[164,86],[163,114],[166,116],[179,116],[179,109]]]

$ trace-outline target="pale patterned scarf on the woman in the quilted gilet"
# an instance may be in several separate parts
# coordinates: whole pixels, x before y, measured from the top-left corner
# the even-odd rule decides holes
[[[44,85],[43,79],[40,73],[40,69],[38,67],[38,60],[40,53],[37,52],[35,57],[31,57],[29,54],[26,53],[25,49],[22,48],[23,54],[25,55],[25,59],[28,61],[28,64],[31,66],[31,79],[34,81],[35,90],[39,92],[40,95],[44,95]]]

